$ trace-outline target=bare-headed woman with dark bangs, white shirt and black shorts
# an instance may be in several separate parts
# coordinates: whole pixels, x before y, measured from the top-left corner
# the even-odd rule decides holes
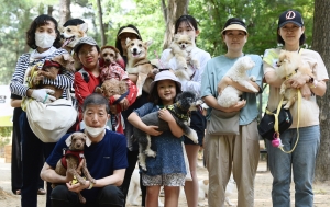
[[[175,34],[186,34],[193,36],[195,42],[199,35],[199,30],[197,26],[197,21],[191,15],[182,15],[175,23]],[[161,62],[172,70],[177,69],[177,62],[175,57],[168,61],[170,49],[165,49],[162,54]],[[189,81],[180,81],[183,91],[194,91],[197,96],[200,96],[200,84],[201,74],[204,72],[205,66],[211,56],[209,53],[195,47],[190,54],[191,59],[197,59],[199,62],[199,68],[195,70],[191,79]],[[202,139],[206,128],[206,120],[201,114],[201,111],[191,112],[191,123],[190,127],[196,130],[198,135],[198,143],[194,143],[190,139],[185,137],[185,146],[189,160],[190,173],[193,181],[186,181],[185,193],[187,197],[187,203],[189,207],[196,207],[198,204],[198,179],[197,179],[197,157],[199,147],[202,146]]]

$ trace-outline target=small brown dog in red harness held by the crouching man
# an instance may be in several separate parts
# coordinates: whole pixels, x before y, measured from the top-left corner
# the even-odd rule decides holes
[[[58,160],[55,172],[62,176],[66,176],[66,173],[74,175],[77,181],[85,185],[86,180],[96,183],[95,179],[91,177],[87,169],[86,160],[84,158],[84,148],[85,143],[87,147],[91,145],[90,139],[84,133],[74,133],[66,140],[65,143],[68,147],[68,150],[65,151],[65,156]],[[81,171],[86,176],[86,180],[80,176],[81,172],[77,172],[79,163],[82,161]],[[56,184],[53,184],[54,187]],[[80,203],[85,204],[86,199],[80,193],[78,193]]]

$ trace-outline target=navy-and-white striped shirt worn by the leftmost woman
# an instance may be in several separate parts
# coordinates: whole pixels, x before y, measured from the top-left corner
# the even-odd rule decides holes
[[[62,55],[67,53],[65,49],[56,49],[52,55],[46,56],[41,59],[35,59],[30,62],[30,53],[23,54],[20,56],[15,71],[12,76],[11,83],[10,83],[10,90],[11,93],[20,95],[20,96],[26,96],[26,91],[28,91],[28,85],[24,84],[24,77],[25,77],[25,71],[29,68],[29,66],[34,66],[34,65],[41,65],[45,62],[45,60],[50,60],[55,56]],[[43,84],[51,84],[55,85],[58,89],[63,89],[63,97],[66,97],[66,90],[70,89],[74,83],[74,73],[65,70],[63,74],[57,74],[57,78],[55,80],[51,80],[47,78],[44,78]]]

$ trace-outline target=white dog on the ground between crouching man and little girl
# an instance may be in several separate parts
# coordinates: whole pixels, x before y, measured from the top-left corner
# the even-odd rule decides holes
[[[132,177],[131,177],[131,183],[128,192],[128,197],[127,197],[127,204],[130,204],[132,206],[140,206],[138,202],[138,197],[141,195],[141,188],[140,188],[140,173],[139,170],[135,169],[133,171]],[[163,207],[164,204],[162,200],[158,198],[158,206]]]

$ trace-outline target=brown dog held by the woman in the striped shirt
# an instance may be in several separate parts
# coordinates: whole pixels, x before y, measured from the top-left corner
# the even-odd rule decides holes
[[[69,54],[62,54],[53,57],[52,60],[46,60],[41,70],[37,68],[37,66],[33,67],[28,73],[28,77],[31,77],[32,82],[30,88],[52,89],[55,91],[53,95],[56,99],[59,99],[63,94],[63,89],[58,89],[55,85],[44,85],[42,82],[44,78],[55,80],[62,70],[75,72],[75,60]]]

